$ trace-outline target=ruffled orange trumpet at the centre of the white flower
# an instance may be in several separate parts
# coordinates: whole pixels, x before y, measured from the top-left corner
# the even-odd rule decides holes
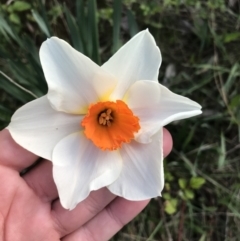
[[[86,137],[102,150],[116,150],[129,143],[140,129],[139,118],[121,100],[91,105],[81,125]]]

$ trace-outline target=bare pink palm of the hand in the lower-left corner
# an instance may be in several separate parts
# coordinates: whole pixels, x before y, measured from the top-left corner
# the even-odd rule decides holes
[[[43,202],[10,168],[0,167],[0,179],[0,240],[59,240],[51,203]]]

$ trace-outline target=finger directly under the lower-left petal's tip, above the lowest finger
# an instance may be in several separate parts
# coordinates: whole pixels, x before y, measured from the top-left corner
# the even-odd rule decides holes
[[[63,237],[80,228],[102,211],[115,197],[107,188],[101,188],[91,192],[72,211],[64,209],[59,200],[55,201],[52,207],[52,217],[60,236]]]

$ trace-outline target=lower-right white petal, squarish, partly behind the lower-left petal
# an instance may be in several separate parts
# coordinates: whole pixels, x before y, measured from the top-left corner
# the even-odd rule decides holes
[[[145,200],[161,195],[164,186],[162,129],[149,144],[132,141],[120,150],[123,168],[108,189],[128,200]]]

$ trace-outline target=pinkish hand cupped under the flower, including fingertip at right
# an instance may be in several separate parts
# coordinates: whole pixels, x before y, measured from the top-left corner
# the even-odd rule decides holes
[[[164,129],[164,156],[172,137]],[[62,208],[52,177],[52,164],[41,160],[20,176],[38,157],[0,131],[0,241],[106,241],[149,203],[133,202],[106,188],[91,192],[77,207]]]

